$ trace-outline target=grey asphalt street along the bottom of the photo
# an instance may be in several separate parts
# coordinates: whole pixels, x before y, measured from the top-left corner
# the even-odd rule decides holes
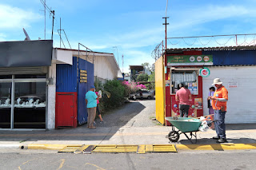
[[[58,154],[5,153],[0,170],[6,169],[255,169],[256,152],[148,153],[148,154]]]

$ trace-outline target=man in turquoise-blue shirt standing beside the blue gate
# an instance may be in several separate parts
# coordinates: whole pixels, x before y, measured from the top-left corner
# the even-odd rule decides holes
[[[96,107],[98,96],[94,93],[95,86],[91,85],[90,90],[86,93],[86,105],[87,105],[87,125],[88,128],[96,128],[94,126],[94,119],[96,117]]]

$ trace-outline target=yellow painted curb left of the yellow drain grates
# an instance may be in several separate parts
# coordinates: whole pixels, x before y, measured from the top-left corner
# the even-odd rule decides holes
[[[28,144],[27,149],[60,150],[66,146],[82,146],[82,144]]]

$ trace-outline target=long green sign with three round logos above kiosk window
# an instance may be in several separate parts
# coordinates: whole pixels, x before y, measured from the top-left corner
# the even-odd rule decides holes
[[[214,65],[212,55],[168,56],[167,66],[172,65]]]

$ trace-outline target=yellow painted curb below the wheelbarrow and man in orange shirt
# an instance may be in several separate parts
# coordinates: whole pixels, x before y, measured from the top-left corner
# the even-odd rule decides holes
[[[256,149],[256,144],[176,144],[178,150],[246,150]]]

